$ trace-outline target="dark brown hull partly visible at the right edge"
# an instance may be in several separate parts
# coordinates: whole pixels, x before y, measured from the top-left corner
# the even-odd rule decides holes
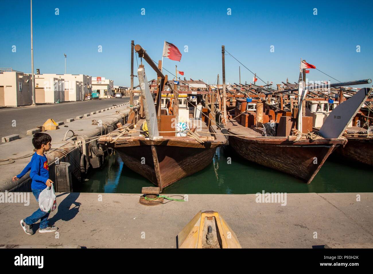
[[[373,138],[348,137],[347,140],[335,152],[348,160],[373,166]]]

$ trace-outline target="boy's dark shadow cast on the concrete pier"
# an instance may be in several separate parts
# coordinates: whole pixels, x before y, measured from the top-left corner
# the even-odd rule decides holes
[[[58,199],[58,197],[66,194],[68,194],[68,196],[66,196],[65,199],[63,199],[60,204],[58,204],[58,201],[60,200]],[[60,195],[57,195],[57,213],[54,214],[52,218],[48,219],[48,224],[53,225],[58,220],[70,221],[71,219],[73,219],[76,214],[78,214],[79,207],[81,205],[81,203],[76,202],[79,194],[80,193],[61,193]],[[73,208],[71,208],[72,204],[75,205]]]

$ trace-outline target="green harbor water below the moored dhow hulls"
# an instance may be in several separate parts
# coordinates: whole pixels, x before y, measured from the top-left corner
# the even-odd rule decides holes
[[[229,158],[231,163],[229,164]],[[74,192],[141,193],[154,186],[126,167],[119,154],[107,155],[98,169],[90,169]],[[373,170],[369,166],[345,163],[329,157],[310,184],[241,158],[233,150],[218,148],[206,169],[163,190],[164,194],[248,194],[257,192],[373,192]]]

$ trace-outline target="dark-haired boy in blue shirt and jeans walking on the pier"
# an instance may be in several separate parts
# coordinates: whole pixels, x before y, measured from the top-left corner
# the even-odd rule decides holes
[[[32,138],[32,144],[36,148],[36,152],[32,155],[30,163],[23,169],[23,171],[17,176],[13,177],[13,180],[18,180],[23,175],[25,175],[29,170],[31,182],[31,190],[34,194],[36,201],[39,202],[39,195],[47,186],[52,186],[53,182],[48,179],[49,177],[49,167],[47,157],[44,152],[48,151],[51,147],[50,142],[52,138],[47,133],[35,133],[34,138]],[[31,216],[21,220],[21,227],[26,232],[26,234],[32,235],[34,231],[32,230],[32,224],[36,223],[40,219],[39,232],[54,232],[58,228],[55,226],[48,226],[48,212],[41,211],[40,208],[32,213]]]

